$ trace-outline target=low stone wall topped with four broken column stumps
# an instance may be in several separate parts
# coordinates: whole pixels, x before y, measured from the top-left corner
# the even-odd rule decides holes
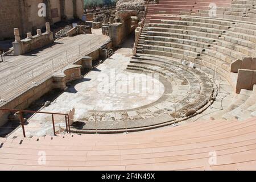
[[[31,32],[27,33],[27,38],[20,40],[19,29],[14,28],[15,42],[13,42],[14,55],[23,55],[34,51],[35,49],[47,46],[54,42],[53,32],[49,28],[49,23],[46,23],[46,32],[42,34],[41,30],[37,30],[37,35],[32,36]]]

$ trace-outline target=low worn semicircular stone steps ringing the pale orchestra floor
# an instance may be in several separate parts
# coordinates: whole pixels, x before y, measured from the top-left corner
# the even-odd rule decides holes
[[[81,130],[88,133],[95,130],[95,115],[98,119],[97,129],[119,130],[125,127],[124,113],[127,113],[127,128],[140,128],[160,125],[197,114],[200,109],[208,107],[208,103],[216,97],[217,86],[207,74],[198,69],[183,65],[179,59],[154,55],[133,56],[127,67],[129,71],[140,73],[157,73],[164,82],[163,96],[149,105],[120,111],[90,111],[84,117],[86,125]],[[105,125],[108,122],[109,127]],[[79,130],[76,130],[79,132]]]

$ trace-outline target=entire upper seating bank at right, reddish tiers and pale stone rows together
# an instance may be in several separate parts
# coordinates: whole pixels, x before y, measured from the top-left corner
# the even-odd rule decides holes
[[[148,6],[137,53],[191,61],[196,68],[207,67],[220,74],[235,89],[237,73],[230,74],[230,64],[256,53],[255,1],[222,1],[226,5],[217,5],[216,17],[209,17],[211,2],[220,3],[170,0]],[[253,117],[254,97],[254,90],[242,89],[241,95],[234,94],[234,102],[212,116]]]

